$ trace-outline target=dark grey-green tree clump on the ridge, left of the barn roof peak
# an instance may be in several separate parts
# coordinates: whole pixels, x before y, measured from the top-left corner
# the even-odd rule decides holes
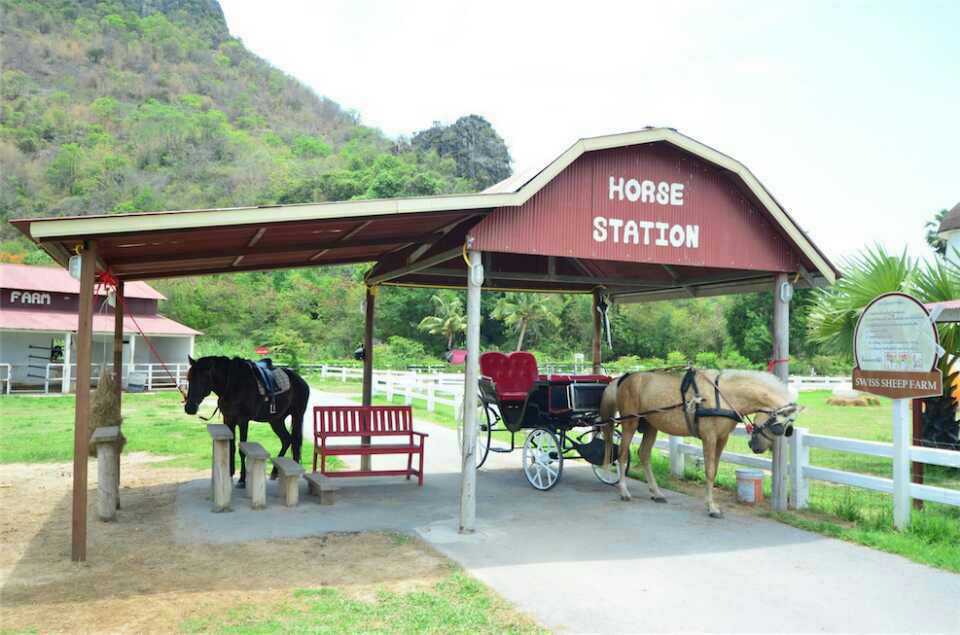
[[[460,117],[450,126],[434,122],[413,136],[417,152],[436,151],[457,164],[457,176],[484,189],[510,176],[510,151],[497,131],[480,115]]]

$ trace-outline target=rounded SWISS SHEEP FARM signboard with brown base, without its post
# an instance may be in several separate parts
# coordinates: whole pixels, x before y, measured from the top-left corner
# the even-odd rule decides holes
[[[863,310],[853,338],[855,390],[894,399],[943,393],[937,327],[915,298],[879,296]]]

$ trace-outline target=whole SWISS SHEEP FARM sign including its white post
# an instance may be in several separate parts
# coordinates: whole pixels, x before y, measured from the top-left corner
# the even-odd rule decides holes
[[[904,529],[910,524],[910,400],[943,394],[937,326],[916,298],[886,293],[863,310],[853,340],[854,389],[893,399],[893,524]]]

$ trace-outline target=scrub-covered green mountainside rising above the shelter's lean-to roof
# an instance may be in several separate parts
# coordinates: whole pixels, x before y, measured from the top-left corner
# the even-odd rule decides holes
[[[14,217],[486,185],[489,170],[471,178],[460,154],[391,140],[270,66],[230,35],[215,0],[0,0],[0,10],[0,238],[14,236]],[[2,247],[7,259],[26,249]]]

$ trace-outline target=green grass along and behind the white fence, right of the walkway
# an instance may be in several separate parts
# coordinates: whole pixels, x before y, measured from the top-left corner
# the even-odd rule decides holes
[[[325,386],[323,388],[318,386],[318,389],[359,396],[357,382],[325,382]],[[800,393],[799,401],[805,410],[800,414],[797,425],[807,428],[812,434],[886,443],[892,440],[888,399],[881,397],[879,406],[843,408],[827,404],[830,394],[829,391]],[[378,396],[374,399],[374,403],[389,402]],[[395,397],[393,403],[402,403],[402,398]],[[428,413],[426,404],[420,400],[414,400],[413,407],[420,420],[448,428],[456,428],[458,425],[452,408],[437,405],[436,412]],[[495,433],[494,438],[507,445],[510,442],[508,433]],[[687,441],[691,440],[687,439]],[[693,440],[693,442],[696,441]],[[517,443],[522,443],[522,439],[518,438]],[[726,449],[729,452],[752,455],[745,437],[731,438]],[[892,471],[890,459],[818,448],[811,449],[810,460],[814,465],[877,476],[889,477]],[[699,484],[704,479],[702,467],[688,465],[684,479],[678,480],[671,476],[669,460],[665,455],[655,452],[652,463],[657,481],[661,485],[685,491],[694,496],[702,495],[699,489]],[[721,463],[717,485],[725,490],[735,491],[736,468],[735,465]],[[642,480],[638,470],[632,469],[630,476]],[[960,489],[960,470],[927,466],[925,482],[940,487]],[[765,494],[767,497],[770,496],[769,479],[765,482]],[[892,528],[892,501],[889,495],[829,483],[811,482],[808,510],[778,514],[768,511],[765,514],[802,529],[900,554],[916,562],[960,573],[960,508],[957,507],[926,503],[922,511],[913,512],[910,528],[907,531],[898,532]]]

